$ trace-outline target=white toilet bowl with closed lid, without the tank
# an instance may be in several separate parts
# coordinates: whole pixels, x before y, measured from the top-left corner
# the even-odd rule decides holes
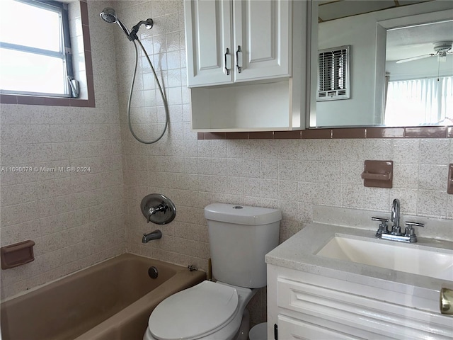
[[[144,340],[247,339],[245,307],[256,290],[203,281],[167,297],[151,313]],[[239,331],[238,331],[239,329]]]

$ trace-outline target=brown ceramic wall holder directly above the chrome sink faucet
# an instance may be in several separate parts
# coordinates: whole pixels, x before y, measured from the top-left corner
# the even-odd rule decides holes
[[[362,172],[363,185],[372,188],[392,188],[393,161],[365,161]]]

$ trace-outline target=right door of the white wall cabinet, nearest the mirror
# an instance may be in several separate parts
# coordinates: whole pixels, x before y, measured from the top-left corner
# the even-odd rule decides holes
[[[234,1],[235,81],[291,76],[292,2]]]

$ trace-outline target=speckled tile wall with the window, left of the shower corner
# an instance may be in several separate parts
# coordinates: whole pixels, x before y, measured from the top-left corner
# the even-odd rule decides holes
[[[89,9],[96,108],[1,104],[1,246],[36,244],[35,261],[1,271],[1,298],[125,251],[115,47]]]

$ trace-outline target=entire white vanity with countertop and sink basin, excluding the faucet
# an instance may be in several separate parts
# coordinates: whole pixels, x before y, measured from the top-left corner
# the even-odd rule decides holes
[[[314,222],[266,255],[268,339],[452,339],[440,290],[453,289],[451,220],[417,243],[375,237],[382,212],[317,206]],[[435,238],[434,238],[435,237]]]

